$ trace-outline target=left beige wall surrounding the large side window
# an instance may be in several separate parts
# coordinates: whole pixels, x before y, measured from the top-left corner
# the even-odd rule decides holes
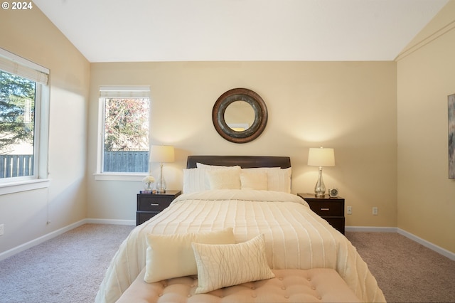
[[[0,48],[50,69],[50,187],[0,196],[0,253],[86,218],[90,63],[34,6],[0,10]],[[46,222],[50,220],[50,224]]]

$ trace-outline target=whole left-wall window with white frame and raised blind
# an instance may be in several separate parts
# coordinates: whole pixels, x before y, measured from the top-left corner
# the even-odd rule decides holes
[[[0,184],[47,178],[48,73],[0,48]]]

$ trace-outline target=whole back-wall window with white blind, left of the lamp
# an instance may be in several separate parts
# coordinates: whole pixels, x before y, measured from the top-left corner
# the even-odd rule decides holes
[[[149,87],[100,87],[100,173],[149,171]]]

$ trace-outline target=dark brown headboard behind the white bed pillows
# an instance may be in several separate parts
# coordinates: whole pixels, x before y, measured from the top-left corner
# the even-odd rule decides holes
[[[196,168],[196,163],[220,166],[240,165],[242,169],[255,167],[291,167],[289,156],[188,156],[187,169]]]

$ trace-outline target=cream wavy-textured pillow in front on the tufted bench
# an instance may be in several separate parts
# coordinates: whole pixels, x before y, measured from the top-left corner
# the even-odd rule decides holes
[[[192,245],[198,265],[196,294],[275,277],[267,264],[264,235],[232,245]]]

